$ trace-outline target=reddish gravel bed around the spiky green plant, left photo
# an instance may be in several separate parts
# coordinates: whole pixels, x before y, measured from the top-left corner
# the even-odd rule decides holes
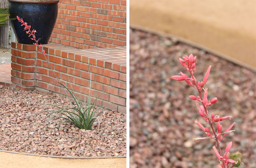
[[[1,85],[0,85],[1,86]],[[43,103],[70,105],[68,98],[38,91],[0,87],[0,149],[72,157],[126,156],[126,114],[105,110],[93,130],[45,118],[54,109]],[[36,115],[35,115],[36,114]],[[98,128],[99,127],[99,128]]]

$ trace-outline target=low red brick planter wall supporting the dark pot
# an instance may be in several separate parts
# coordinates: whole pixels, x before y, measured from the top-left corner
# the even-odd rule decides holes
[[[43,48],[54,73],[36,46],[12,43],[12,83],[16,88],[65,94],[60,84],[53,82],[56,75],[79,99],[87,100],[91,73],[92,100],[100,95],[97,105],[126,112],[126,47],[81,50],[46,44]]]

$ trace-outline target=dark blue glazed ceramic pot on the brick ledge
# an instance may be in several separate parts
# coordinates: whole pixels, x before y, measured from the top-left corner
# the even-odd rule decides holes
[[[38,44],[47,44],[54,28],[58,14],[59,0],[9,0],[10,18],[19,16],[24,22],[31,25],[31,31],[36,30],[35,37]],[[33,44],[24,30],[24,26],[15,19],[11,20],[18,43]]]

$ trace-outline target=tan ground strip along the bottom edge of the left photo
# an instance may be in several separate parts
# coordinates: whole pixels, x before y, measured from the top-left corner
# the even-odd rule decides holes
[[[126,158],[59,159],[0,152],[1,168],[125,168]]]

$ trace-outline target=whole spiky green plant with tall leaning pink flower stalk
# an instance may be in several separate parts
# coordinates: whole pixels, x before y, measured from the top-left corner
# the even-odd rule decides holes
[[[31,31],[30,30],[31,26],[28,25],[26,22],[24,22],[23,19],[18,16],[17,16],[17,20],[22,23],[21,26],[25,26],[24,31],[26,31],[26,34],[29,34],[29,37],[31,38],[31,40],[35,41],[35,43],[33,43],[33,44],[38,46],[38,48],[40,49],[40,52],[44,55],[45,60],[47,60],[47,57],[45,56],[45,51],[43,50],[42,45],[38,44],[39,39],[36,40],[36,37],[35,37],[36,30],[33,29]],[[75,107],[71,100],[70,100],[70,103],[73,105],[73,107],[71,107],[71,108],[67,107],[65,105],[47,104],[47,105],[52,105],[52,106],[58,108],[58,110],[46,110],[46,111],[50,112],[47,115],[47,117],[53,116],[51,118],[61,118],[61,119],[63,119],[61,122],[70,122],[79,129],[91,130],[94,121],[98,120],[98,122],[99,122],[99,119],[97,118],[99,116],[99,114],[101,114],[108,107],[108,106],[105,107],[106,105],[103,105],[103,106],[100,106],[99,108],[96,108],[96,101],[101,94],[99,94],[99,96],[96,97],[96,99],[93,101],[93,103],[90,103],[91,78],[90,78],[90,88],[89,88],[87,105],[86,105],[85,99],[84,99],[84,106],[83,106],[82,102],[78,99],[78,97],[76,97],[76,94],[73,94],[65,85],[63,85],[60,82],[60,80],[58,79],[57,75],[53,71],[48,60],[47,60],[47,63],[49,65],[49,67],[51,68],[53,74],[55,75],[56,79],[58,80],[57,82],[61,85],[61,88],[64,90],[64,92],[67,95],[67,97],[69,98],[69,100],[70,100],[70,97],[68,96],[66,90],[69,92],[69,94],[74,99],[75,104],[76,104],[76,107]],[[72,87],[72,85],[71,85],[71,87]],[[41,111],[41,112],[46,112],[46,111]],[[59,114],[59,116],[55,116],[53,114]]]

